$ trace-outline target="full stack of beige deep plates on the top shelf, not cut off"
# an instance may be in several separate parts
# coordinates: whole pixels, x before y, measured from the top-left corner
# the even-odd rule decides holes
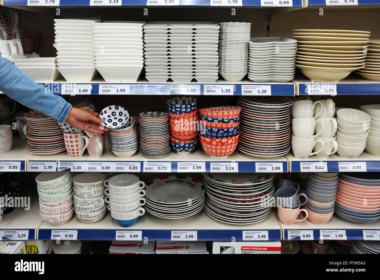
[[[339,82],[364,67],[368,31],[295,29],[296,67],[316,82]]]

